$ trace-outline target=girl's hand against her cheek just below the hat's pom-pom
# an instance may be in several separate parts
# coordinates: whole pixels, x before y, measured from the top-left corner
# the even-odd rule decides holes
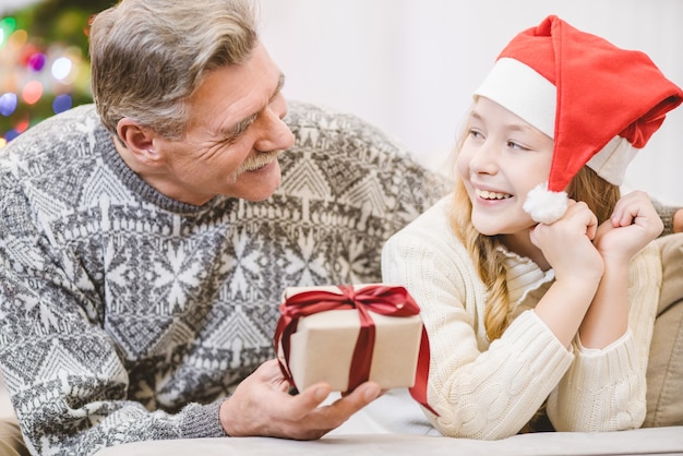
[[[592,244],[598,218],[584,202],[570,200],[567,212],[559,220],[539,224],[531,231],[531,242],[555,272],[558,280],[578,278],[600,280],[602,257]]]

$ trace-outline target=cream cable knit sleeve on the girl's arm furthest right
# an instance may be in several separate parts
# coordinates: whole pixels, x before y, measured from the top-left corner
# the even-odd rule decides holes
[[[648,352],[661,287],[661,261],[650,244],[630,265],[628,332],[609,347],[585,349],[548,400],[559,431],[618,431],[639,428],[646,412]]]

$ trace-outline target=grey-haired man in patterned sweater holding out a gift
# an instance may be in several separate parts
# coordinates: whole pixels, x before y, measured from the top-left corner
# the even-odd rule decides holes
[[[124,0],[93,22],[91,57],[95,105],[0,158],[0,364],[28,449],[317,439],[378,397],[290,395],[271,337],[284,286],[379,279],[420,182],[376,145],[372,170],[300,147],[274,195],[295,139],[247,0]],[[312,160],[315,197],[297,187]]]

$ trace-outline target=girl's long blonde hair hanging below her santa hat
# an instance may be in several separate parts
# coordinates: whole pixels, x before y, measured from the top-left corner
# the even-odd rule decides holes
[[[466,133],[460,134],[457,151],[465,142]],[[621,193],[618,185],[599,177],[584,166],[566,189],[568,196],[585,202],[596,214],[598,223],[609,219]],[[498,236],[481,235],[471,224],[472,205],[460,179],[456,179],[454,203],[451,211],[451,226],[463,241],[488,291],[484,313],[484,327],[489,340],[501,337],[510,324],[510,295],[505,267],[498,250]]]

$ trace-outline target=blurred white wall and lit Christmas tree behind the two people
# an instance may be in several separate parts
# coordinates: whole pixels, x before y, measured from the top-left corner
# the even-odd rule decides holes
[[[0,0],[0,147],[89,101],[87,22],[113,0]],[[514,35],[558,14],[647,52],[683,86],[681,0],[259,0],[285,94],[354,112],[443,169],[471,93]],[[197,11],[197,14],[211,13]],[[630,167],[627,189],[683,204],[683,107]]]

